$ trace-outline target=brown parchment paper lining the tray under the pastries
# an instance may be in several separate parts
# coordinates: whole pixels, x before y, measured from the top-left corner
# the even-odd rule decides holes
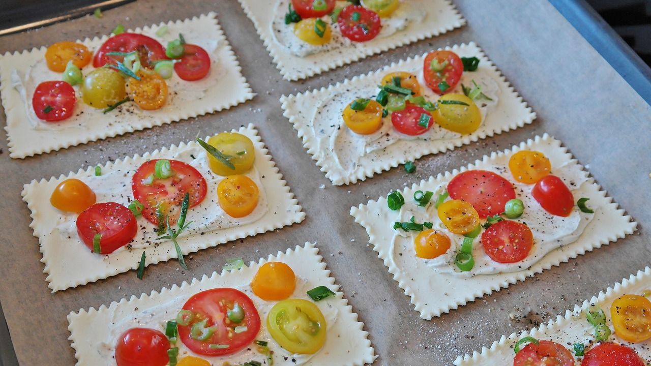
[[[235,0],[191,0],[183,5],[172,0],[140,0],[107,10],[100,19],[87,16],[47,29],[1,36],[0,52],[5,53],[103,35],[118,23],[130,28],[215,11],[242,65],[242,74],[258,93],[253,100],[228,111],[21,161],[9,158],[7,139],[0,136],[0,176],[5,188],[0,193],[5,227],[0,241],[0,303],[21,365],[74,364],[67,339],[66,315],[70,311],[180,285],[221,270],[227,258],[258,260],[307,240],[316,240],[333,277],[359,320],[365,322],[380,356],[374,365],[411,365],[415,359],[450,365],[460,354],[490,346],[496,335],[529,329],[647,266],[651,258],[646,232],[651,223],[651,137],[647,134],[651,107],[546,1],[454,0],[454,4],[467,20],[464,28],[301,83],[283,81],[253,23]],[[421,158],[411,175],[397,168],[359,184],[334,187],[318,171],[292,124],[282,115],[281,94],[320,88],[407,56],[470,41],[477,42],[536,111],[538,119],[533,124]],[[307,219],[303,223],[195,253],[188,258],[188,271],[171,261],[148,267],[143,281],[132,271],[77,289],[49,292],[42,273],[44,264],[39,262],[38,241],[29,229],[29,210],[20,197],[23,184],[249,122],[260,130],[280,173],[305,209]],[[0,125],[5,124],[5,115],[0,113]],[[638,233],[440,318],[422,320],[367,244],[364,229],[348,214],[350,206],[467,165],[488,152],[504,150],[544,132],[561,139],[579,163],[587,165],[596,182],[638,221]],[[509,317],[514,310],[527,307],[532,309],[528,316]],[[40,333],[38,337],[35,330]]]

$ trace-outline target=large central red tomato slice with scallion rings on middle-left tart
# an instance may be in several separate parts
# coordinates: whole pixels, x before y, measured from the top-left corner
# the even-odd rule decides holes
[[[174,225],[181,214],[181,203],[186,192],[190,193],[190,208],[206,197],[206,180],[192,165],[170,160],[174,175],[164,179],[153,178],[151,184],[146,184],[154,176],[156,162],[158,159],[144,163],[133,175],[133,197],[145,206],[143,217],[150,223],[158,225],[158,208],[163,216],[169,217],[169,224]]]

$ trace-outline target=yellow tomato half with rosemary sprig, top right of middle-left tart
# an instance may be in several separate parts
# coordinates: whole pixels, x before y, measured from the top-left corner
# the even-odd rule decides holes
[[[208,154],[208,166],[215,174],[227,176],[242,174],[251,169],[255,160],[253,141],[245,135],[236,132],[222,132],[208,139],[208,145],[227,155],[235,169],[230,169],[225,163]]]

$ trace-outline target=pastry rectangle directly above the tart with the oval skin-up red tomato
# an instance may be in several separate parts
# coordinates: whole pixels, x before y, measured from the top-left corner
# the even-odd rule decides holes
[[[281,102],[303,146],[335,185],[522,127],[536,117],[473,42],[318,91],[282,96]],[[471,107],[472,115],[465,111]],[[458,108],[464,119],[450,126],[443,111]],[[373,114],[377,124],[359,130],[347,120],[352,115],[354,123],[363,114]]]

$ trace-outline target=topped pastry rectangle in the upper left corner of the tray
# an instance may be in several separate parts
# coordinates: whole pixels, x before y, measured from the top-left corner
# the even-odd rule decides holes
[[[228,109],[253,98],[255,94],[242,76],[238,61],[215,15],[210,12],[199,18],[138,28],[110,38],[103,36],[78,42],[59,42],[49,48],[0,55],[0,94],[7,115],[5,130],[10,156],[25,158],[160,126]],[[178,48],[181,39],[187,43],[184,48],[180,48],[180,54],[171,54],[171,57],[181,59],[174,64],[174,72],[171,64],[168,64],[168,79],[158,77],[158,83],[154,84],[149,81],[138,83],[134,77],[127,77],[126,89],[124,83],[113,87],[107,86],[110,83],[100,83],[107,82],[105,79],[119,80],[120,77],[116,76],[120,72],[128,74],[129,70],[137,69],[139,71],[134,75],[139,79],[151,79],[149,74],[156,74],[154,66],[158,69],[158,62],[170,57],[165,52],[174,49],[171,47],[174,41]],[[148,54],[145,56],[139,53],[139,57],[132,56],[128,62],[124,53],[132,51],[132,48],[124,46],[125,44],[132,44],[132,48],[146,49]],[[204,52],[201,53],[198,49],[203,49]],[[124,52],[122,55],[106,55],[107,51]],[[201,53],[201,63],[207,74],[196,81],[189,81],[201,76],[188,75],[187,67],[181,70],[185,55],[195,55],[195,51],[197,55]],[[68,52],[85,54],[81,57],[85,59],[80,63],[81,70],[78,67],[76,71],[66,68],[65,61],[61,63],[59,60],[59,64],[51,64],[53,59]],[[87,64],[90,57],[93,60]],[[110,60],[108,63],[111,67],[99,67],[107,63],[107,59]],[[117,62],[120,59],[124,61]],[[137,63],[134,59],[137,59]],[[76,65],[75,62],[76,60],[73,64]],[[84,64],[87,65],[83,66]],[[118,68],[120,72],[116,71]],[[162,72],[165,71],[163,68]],[[68,72],[73,75],[70,83],[81,83],[71,86],[67,81],[62,81],[68,79],[64,77]],[[95,82],[100,84],[92,84]],[[137,89],[138,85],[140,89]],[[111,90],[116,98],[114,100],[105,94],[94,94],[96,90]],[[148,99],[148,93],[152,90],[156,91],[157,102],[158,99],[163,99],[163,104],[158,109],[148,110],[156,106],[142,107],[139,100]],[[125,92],[128,92],[126,97]],[[93,95],[96,95],[95,100]],[[104,102],[104,98],[110,102]],[[126,103],[120,105],[124,101]],[[59,120],[61,118],[64,119]]]

